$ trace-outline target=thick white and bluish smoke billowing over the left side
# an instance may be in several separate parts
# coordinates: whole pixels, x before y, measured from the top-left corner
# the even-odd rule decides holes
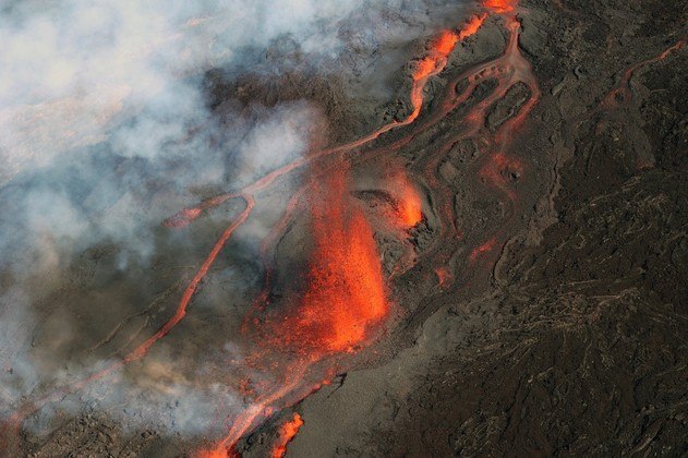
[[[425,3],[454,20],[460,11]],[[89,373],[31,355],[35,334],[50,330],[45,302],[74,256],[109,243],[120,251],[116,268],[145,269],[156,252],[153,232],[198,198],[193,186],[237,188],[309,147],[317,107],[227,100],[216,114],[204,93],[207,70],[252,71],[267,48],[289,41],[315,70],[372,73],[361,60],[381,59],[379,47],[400,47],[432,33],[431,23],[444,25],[425,3],[23,0],[0,7],[0,414],[11,414],[22,397]],[[348,69],[331,64],[352,47],[359,60]],[[60,322],[58,334],[69,339],[77,327]],[[241,403],[218,384],[170,378],[158,389],[160,374],[135,386],[118,376],[119,384],[97,384],[88,391],[99,394],[90,396],[111,407],[148,391],[138,418],[169,431],[208,427],[198,411],[212,411],[220,398],[228,408]],[[183,393],[186,403],[176,417],[161,415],[158,406],[169,396],[159,393]],[[72,402],[79,411],[81,403]]]

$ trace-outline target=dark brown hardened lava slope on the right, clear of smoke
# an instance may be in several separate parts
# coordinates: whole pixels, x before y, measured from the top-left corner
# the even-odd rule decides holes
[[[548,198],[488,285],[433,299],[407,350],[298,407],[294,456],[688,453],[687,11],[519,11],[543,94],[519,147],[557,158]]]

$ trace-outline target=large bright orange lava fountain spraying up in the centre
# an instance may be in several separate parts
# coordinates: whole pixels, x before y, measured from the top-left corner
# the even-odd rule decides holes
[[[314,251],[307,289],[298,313],[281,324],[289,339],[326,351],[348,351],[388,310],[373,231],[363,212],[348,203],[347,174],[323,183],[313,203]]]

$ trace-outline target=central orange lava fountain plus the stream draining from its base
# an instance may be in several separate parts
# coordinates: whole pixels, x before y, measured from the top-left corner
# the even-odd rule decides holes
[[[385,279],[373,231],[363,213],[352,205],[348,193],[347,162],[323,181],[307,185],[311,202],[313,251],[302,297],[277,312],[255,305],[261,320],[248,316],[243,337],[255,341],[248,358],[256,370],[271,369],[275,383],[263,386],[252,407],[237,417],[228,434],[208,454],[231,453],[233,445],[258,421],[268,417],[276,402],[286,407],[317,386],[303,384],[307,369],[338,353],[350,353],[371,337],[371,330],[387,315]],[[315,173],[317,177],[318,174]],[[290,302],[290,301],[288,301]],[[256,312],[257,314],[257,312]],[[325,369],[331,373],[334,369]]]

